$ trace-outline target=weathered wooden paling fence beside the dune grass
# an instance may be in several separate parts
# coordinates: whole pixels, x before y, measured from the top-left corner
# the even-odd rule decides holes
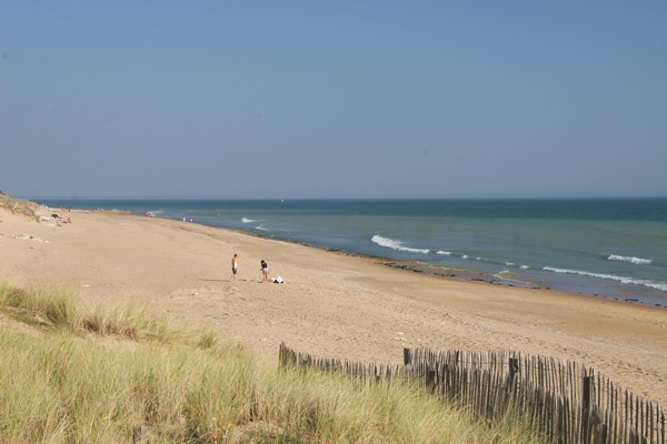
[[[405,365],[318,359],[280,345],[280,363],[356,380],[416,377],[486,418],[527,415],[548,442],[667,444],[665,408],[591,367],[517,352],[405,349]]]

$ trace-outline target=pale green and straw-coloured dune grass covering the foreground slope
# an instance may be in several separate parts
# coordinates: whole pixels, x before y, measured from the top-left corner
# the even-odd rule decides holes
[[[1,285],[0,313],[13,317],[0,322],[0,442],[128,443],[138,425],[151,443],[540,442],[410,382],[279,369],[211,331],[63,291]]]

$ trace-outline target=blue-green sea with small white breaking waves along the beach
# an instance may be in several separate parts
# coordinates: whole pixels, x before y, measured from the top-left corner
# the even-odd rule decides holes
[[[667,307],[667,198],[36,201],[242,230],[436,275]]]

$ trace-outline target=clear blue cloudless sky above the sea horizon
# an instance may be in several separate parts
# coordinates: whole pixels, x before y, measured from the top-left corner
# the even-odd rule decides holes
[[[0,2],[26,198],[667,195],[667,1]]]

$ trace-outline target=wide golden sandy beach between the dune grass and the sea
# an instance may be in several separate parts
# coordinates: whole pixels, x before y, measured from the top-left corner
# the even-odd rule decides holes
[[[464,282],[377,260],[189,222],[0,210],[0,281],[133,301],[277,360],[280,342],[322,357],[400,363],[402,347],[514,350],[577,361],[667,405],[667,309]],[[231,258],[239,273],[230,281]],[[269,276],[257,282],[260,260]],[[0,315],[1,316],[1,315]]]

